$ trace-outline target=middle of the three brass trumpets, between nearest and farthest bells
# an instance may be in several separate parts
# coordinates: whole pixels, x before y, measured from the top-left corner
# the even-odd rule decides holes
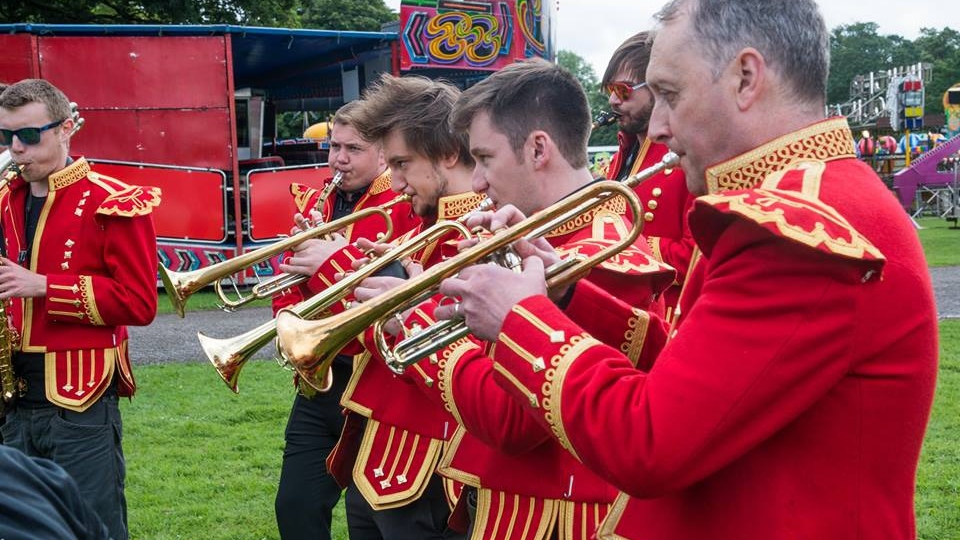
[[[363,265],[362,268],[347,274],[343,279],[327,287],[320,293],[300,302],[293,308],[283,311],[289,311],[305,319],[315,317],[323,310],[353,292],[357,285],[364,279],[376,274],[394,262],[420,251],[449,232],[458,232],[465,239],[472,237],[470,231],[458,221],[437,222],[432,227],[424,230],[403,244],[387,251],[379,257],[371,259]],[[220,378],[236,393],[238,392],[237,378],[240,375],[240,369],[243,367],[243,364],[253,356],[253,353],[270,342],[276,334],[276,320],[271,319],[233,338],[211,338],[199,332],[197,333],[197,337],[200,339],[200,346],[203,348],[203,352],[206,353],[214,369],[220,374]],[[359,332],[350,337],[353,338],[357,335],[359,335]],[[311,381],[310,384],[317,388],[317,390],[325,391],[330,388],[333,381],[330,380],[327,373],[322,375],[324,377],[322,383]]]

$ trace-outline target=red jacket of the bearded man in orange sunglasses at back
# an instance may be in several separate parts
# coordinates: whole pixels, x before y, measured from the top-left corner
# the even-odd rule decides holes
[[[620,146],[610,160],[607,178],[616,180],[622,174],[637,174],[656,165],[667,154],[665,144],[657,144],[644,138],[632,163],[627,163],[630,150],[637,142],[635,135],[617,134]],[[680,168],[667,169],[643,181],[634,188],[643,205],[643,234],[650,250],[657,259],[677,271],[676,283],[664,292],[668,314],[677,305],[680,288],[690,267],[694,241],[687,226],[687,214],[693,206],[693,196],[687,190],[686,177]]]

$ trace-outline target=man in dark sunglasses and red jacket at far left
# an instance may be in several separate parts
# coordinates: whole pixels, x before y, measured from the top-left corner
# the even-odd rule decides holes
[[[160,190],[72,160],[70,112],[63,92],[44,80],[0,94],[0,143],[17,166],[0,191],[0,301],[15,336],[7,359],[15,382],[4,388],[15,401],[0,429],[5,445],[63,467],[110,536],[125,540],[117,401],[135,389],[125,325],[156,315],[150,213]]]

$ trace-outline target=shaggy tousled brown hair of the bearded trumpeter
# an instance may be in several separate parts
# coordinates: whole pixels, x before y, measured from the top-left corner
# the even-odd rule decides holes
[[[457,156],[460,163],[472,167],[466,135],[451,128],[459,95],[460,90],[445,82],[385,73],[367,88],[352,111],[353,127],[371,141],[382,141],[396,130],[407,146],[433,162]]]

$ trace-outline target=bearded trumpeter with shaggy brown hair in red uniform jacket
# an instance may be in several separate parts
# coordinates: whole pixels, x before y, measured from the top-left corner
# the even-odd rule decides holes
[[[383,144],[393,190],[411,197],[423,219],[417,229],[394,242],[402,244],[439,221],[456,220],[483,199],[470,191],[473,158],[466,137],[452,134],[450,112],[459,91],[423,77],[384,75],[363,96],[354,125]],[[412,261],[429,267],[456,253],[458,236],[440,238],[419,250]],[[334,283],[337,274],[365,257],[372,242],[346,246],[321,265],[318,276]],[[391,289],[402,278],[374,276],[357,287],[355,298],[332,306],[342,312],[354,300],[365,301]],[[340,442],[328,464],[347,488],[346,509],[354,540],[449,539],[448,498],[456,493],[436,475],[456,421],[414,385],[389,371],[370,342],[370,332],[344,352],[367,353],[354,364],[342,403],[349,411]]]

